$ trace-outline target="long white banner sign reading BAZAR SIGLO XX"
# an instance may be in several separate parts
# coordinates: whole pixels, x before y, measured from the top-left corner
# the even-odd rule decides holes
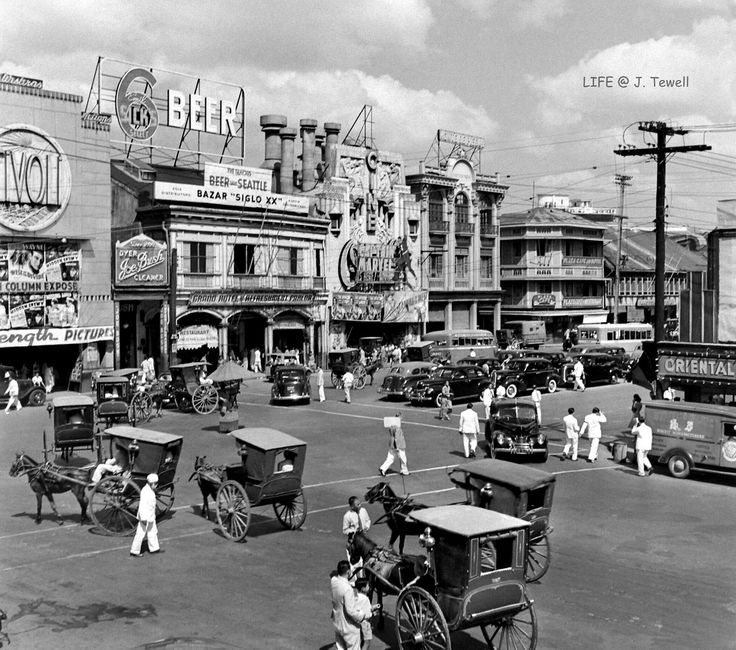
[[[203,185],[181,183],[153,184],[153,198],[159,201],[181,201],[184,203],[204,203],[208,205],[227,205],[235,208],[264,208],[284,212],[309,212],[309,199],[289,194],[273,194],[254,190],[209,189]]]

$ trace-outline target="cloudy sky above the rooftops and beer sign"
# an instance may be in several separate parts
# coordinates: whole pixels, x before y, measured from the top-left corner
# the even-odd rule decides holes
[[[0,72],[86,96],[98,56],[243,86],[248,164],[261,114],[347,129],[369,104],[376,144],[409,171],[438,128],[482,136],[504,211],[533,191],[615,208],[625,173],[630,223],[646,226],[655,165],[613,151],[664,120],[694,127],[672,144],[713,147],[670,160],[670,222],[708,230],[736,195],[734,0],[0,0]]]

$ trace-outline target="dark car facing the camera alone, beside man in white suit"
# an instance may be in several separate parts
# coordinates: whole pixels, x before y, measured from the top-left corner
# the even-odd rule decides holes
[[[549,456],[547,436],[539,430],[534,402],[499,399],[486,421],[486,454],[491,458],[526,456],[544,462]]]

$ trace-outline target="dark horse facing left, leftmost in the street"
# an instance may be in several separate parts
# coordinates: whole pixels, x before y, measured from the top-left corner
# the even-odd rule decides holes
[[[89,472],[81,467],[60,467],[51,463],[37,463],[25,453],[15,455],[15,461],[10,467],[11,476],[28,476],[28,484],[36,493],[36,523],[41,523],[41,499],[45,496],[56,515],[56,522],[61,526],[64,523],[54,503],[54,494],[69,492],[77,498],[82,509],[81,523],[89,523],[87,517],[86,489],[89,483]]]

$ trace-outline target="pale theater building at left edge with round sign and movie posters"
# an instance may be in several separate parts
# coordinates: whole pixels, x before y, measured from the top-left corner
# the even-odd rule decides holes
[[[82,97],[3,78],[0,354],[21,377],[86,389],[113,364],[109,122]]]

